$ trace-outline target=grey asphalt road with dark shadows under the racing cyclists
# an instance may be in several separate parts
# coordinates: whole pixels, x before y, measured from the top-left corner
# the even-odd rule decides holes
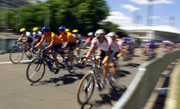
[[[80,79],[89,68],[75,67],[73,74],[60,70],[55,75],[46,67],[43,79],[31,86],[26,78],[28,63],[12,64],[9,54],[0,55],[0,109],[110,109],[136,75],[138,66],[145,62],[139,53],[137,49],[132,60],[120,61],[116,90],[95,89],[90,102],[83,106],[77,103],[76,93]]]

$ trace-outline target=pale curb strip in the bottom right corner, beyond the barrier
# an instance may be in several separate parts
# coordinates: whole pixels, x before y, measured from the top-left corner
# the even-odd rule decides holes
[[[180,76],[180,61],[172,71],[165,109],[177,109],[178,77]]]

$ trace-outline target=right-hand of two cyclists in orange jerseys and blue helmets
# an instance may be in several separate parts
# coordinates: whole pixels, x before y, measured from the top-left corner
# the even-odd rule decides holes
[[[72,35],[71,32],[65,31],[65,26],[60,26],[58,28],[59,31],[59,38],[63,39],[65,42],[62,49],[68,48],[68,59],[70,61],[70,68],[73,68],[72,62],[73,62],[73,51],[76,48],[76,38]]]

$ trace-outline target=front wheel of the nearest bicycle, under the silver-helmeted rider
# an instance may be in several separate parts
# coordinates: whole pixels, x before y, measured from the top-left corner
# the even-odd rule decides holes
[[[77,101],[79,104],[87,103],[94,91],[94,76],[91,72],[81,79],[77,90]]]

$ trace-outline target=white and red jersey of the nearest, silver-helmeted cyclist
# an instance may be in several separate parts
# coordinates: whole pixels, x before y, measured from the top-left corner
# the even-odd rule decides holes
[[[109,51],[110,49],[107,37],[105,37],[103,43],[100,43],[97,37],[93,38],[91,41],[91,47],[97,47],[103,51]]]

